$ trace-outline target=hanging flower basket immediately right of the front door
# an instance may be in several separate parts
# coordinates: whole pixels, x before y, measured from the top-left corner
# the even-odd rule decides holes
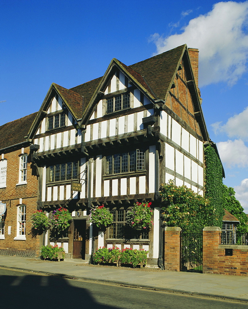
[[[104,228],[113,223],[113,215],[104,205],[97,206],[94,210],[90,210],[89,222],[95,223],[97,227]]]

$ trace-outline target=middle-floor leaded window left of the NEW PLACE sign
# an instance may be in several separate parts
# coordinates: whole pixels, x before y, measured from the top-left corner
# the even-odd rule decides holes
[[[61,163],[50,166],[49,181],[75,179],[78,176],[78,162]]]

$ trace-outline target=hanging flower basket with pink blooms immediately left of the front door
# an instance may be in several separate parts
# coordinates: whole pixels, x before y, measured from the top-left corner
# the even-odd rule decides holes
[[[54,210],[50,218],[51,230],[56,232],[62,232],[70,226],[72,215],[63,207]]]

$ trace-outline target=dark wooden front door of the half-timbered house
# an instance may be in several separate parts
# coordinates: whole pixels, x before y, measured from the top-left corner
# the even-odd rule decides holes
[[[85,259],[86,220],[74,220],[73,259]]]

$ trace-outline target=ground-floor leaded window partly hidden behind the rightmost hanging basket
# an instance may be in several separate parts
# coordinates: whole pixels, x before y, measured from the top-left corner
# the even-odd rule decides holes
[[[109,238],[113,239],[149,239],[149,231],[137,232],[126,224],[128,210],[111,210],[113,223],[109,227]]]

